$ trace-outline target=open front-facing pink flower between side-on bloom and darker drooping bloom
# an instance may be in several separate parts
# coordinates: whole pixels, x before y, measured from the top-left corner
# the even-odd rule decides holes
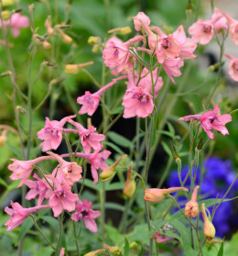
[[[75,210],[75,202],[79,200],[77,194],[70,192],[70,186],[63,185],[53,192],[53,195],[49,197],[49,205],[52,207],[54,217],[58,217],[63,209],[72,212]]]

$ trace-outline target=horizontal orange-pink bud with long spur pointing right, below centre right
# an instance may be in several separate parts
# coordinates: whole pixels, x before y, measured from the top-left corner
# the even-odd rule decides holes
[[[166,198],[167,195],[177,191],[189,191],[186,187],[170,187],[168,189],[147,188],[144,199],[148,202],[157,203]]]

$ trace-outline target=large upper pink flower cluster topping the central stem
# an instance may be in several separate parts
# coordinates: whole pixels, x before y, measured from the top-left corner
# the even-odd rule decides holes
[[[126,42],[113,36],[107,40],[103,50],[104,64],[114,75],[119,73],[124,75],[113,79],[94,94],[87,91],[85,95],[78,97],[77,102],[82,105],[80,114],[87,113],[92,116],[99,105],[101,95],[118,80],[127,79],[127,89],[122,104],[124,118],[147,117],[153,112],[154,99],[163,85],[162,77],[159,76],[160,69],[163,68],[175,83],[174,77],[181,75],[179,68],[184,65],[183,61],[196,57],[193,51],[196,50],[197,44],[186,37],[183,26],[179,26],[171,35],[167,35],[158,27],[149,27],[150,19],[143,12],[133,18],[135,30],[141,31],[143,36],[135,36]],[[142,42],[143,46],[135,49],[135,44],[138,42]],[[149,65],[139,57],[137,50],[144,51],[150,58],[157,57],[154,68],[149,70],[146,68]],[[135,71],[136,62],[146,65],[140,73]]]

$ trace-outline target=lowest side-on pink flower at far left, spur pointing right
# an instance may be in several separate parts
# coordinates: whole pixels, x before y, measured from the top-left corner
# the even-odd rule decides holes
[[[5,207],[5,213],[10,215],[11,218],[9,218],[5,222],[6,232],[12,230],[13,228],[16,228],[19,226],[27,217],[29,214],[35,213],[41,209],[48,209],[50,206],[35,206],[30,208],[23,208],[18,203],[13,203],[11,201],[12,208]]]

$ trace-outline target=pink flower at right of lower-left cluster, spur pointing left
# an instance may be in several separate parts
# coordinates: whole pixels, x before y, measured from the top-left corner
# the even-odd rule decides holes
[[[102,150],[103,145],[101,145]],[[108,168],[108,164],[105,162],[108,157],[111,155],[111,151],[109,150],[103,150],[100,152],[100,150],[95,150],[91,154],[84,154],[84,153],[76,153],[77,157],[81,157],[83,159],[87,159],[91,164],[91,173],[93,178],[93,184],[98,183],[98,169],[105,170]],[[68,157],[69,154],[63,154],[61,157]]]

